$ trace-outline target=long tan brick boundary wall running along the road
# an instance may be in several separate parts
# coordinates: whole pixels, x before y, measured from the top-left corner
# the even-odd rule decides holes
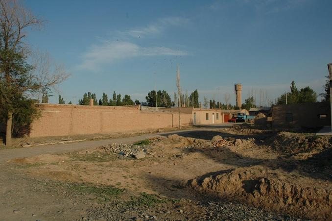
[[[29,130],[29,137],[108,134],[178,127],[176,113],[144,112],[140,106],[83,106],[38,104],[41,117]],[[192,124],[191,114],[181,114],[181,125]]]

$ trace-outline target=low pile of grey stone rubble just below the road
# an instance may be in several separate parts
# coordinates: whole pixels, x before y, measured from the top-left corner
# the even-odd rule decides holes
[[[146,145],[126,145],[126,144],[109,144],[99,147],[104,153],[107,154],[118,154],[119,157],[132,157],[141,159],[146,154],[151,154],[149,151],[151,148]]]

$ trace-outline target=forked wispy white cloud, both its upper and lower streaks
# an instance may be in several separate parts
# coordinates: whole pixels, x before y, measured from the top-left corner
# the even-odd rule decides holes
[[[116,61],[138,56],[156,55],[187,55],[188,52],[175,50],[166,47],[142,47],[131,42],[135,37],[156,38],[161,35],[166,28],[171,26],[185,25],[189,22],[186,18],[166,17],[147,25],[128,29],[126,31],[116,31],[116,41],[104,40],[98,45],[91,46],[82,54],[83,61],[76,66],[77,70],[98,71],[103,65],[112,64]]]

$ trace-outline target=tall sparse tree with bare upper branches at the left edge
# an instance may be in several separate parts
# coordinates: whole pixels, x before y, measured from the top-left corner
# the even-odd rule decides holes
[[[0,0],[0,121],[6,125],[6,146],[12,145],[12,131],[25,128],[38,117],[30,95],[46,94],[50,87],[64,80],[44,66],[43,75],[37,68],[43,61],[29,65],[30,53],[24,38],[27,30],[41,21],[21,1]],[[15,134],[14,134],[15,135]]]

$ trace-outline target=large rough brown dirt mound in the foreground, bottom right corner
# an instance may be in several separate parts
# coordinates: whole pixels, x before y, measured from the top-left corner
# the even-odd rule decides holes
[[[217,172],[188,181],[189,187],[223,199],[245,202],[310,219],[332,219],[332,190],[287,182],[256,166]]]

